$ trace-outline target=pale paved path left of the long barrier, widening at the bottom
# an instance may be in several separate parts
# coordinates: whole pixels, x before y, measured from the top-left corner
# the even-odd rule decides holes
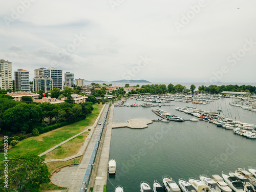
[[[102,112],[99,121],[103,121],[104,115],[108,110],[108,105],[106,105],[105,109]],[[100,132],[101,125],[96,125],[95,130],[91,136],[91,139],[88,143],[86,152],[84,152],[82,160],[78,166],[72,167],[64,167],[58,173],[54,173],[51,181],[62,187],[69,187],[68,192],[78,192],[81,188],[82,180],[84,174],[86,173],[86,169],[89,165],[89,160],[91,158],[94,145],[97,141],[98,134]]]

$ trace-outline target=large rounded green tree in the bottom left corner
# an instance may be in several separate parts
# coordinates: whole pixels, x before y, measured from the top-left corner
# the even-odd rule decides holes
[[[0,191],[39,191],[40,184],[50,182],[51,174],[47,168],[45,159],[36,155],[8,157],[8,188],[4,182],[0,182]],[[4,161],[0,169],[4,170]],[[5,175],[1,174],[0,179],[4,181]]]

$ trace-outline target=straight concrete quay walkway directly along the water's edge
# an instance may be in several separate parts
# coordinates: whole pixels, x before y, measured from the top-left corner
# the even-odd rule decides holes
[[[94,192],[102,192],[104,185],[106,185],[106,180],[108,178],[108,164],[110,156],[110,143],[111,143],[111,134],[112,134],[112,122],[114,114],[114,105],[110,108],[110,116],[108,120],[108,125],[106,126],[105,137],[103,141],[102,151],[100,154],[99,165],[94,179]],[[91,181],[90,181],[91,182]],[[92,181],[93,182],[93,181]]]

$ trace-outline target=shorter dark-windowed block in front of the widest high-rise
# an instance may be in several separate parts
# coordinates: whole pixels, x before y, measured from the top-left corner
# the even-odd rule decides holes
[[[33,91],[50,93],[53,88],[53,80],[50,77],[39,76],[33,78]]]

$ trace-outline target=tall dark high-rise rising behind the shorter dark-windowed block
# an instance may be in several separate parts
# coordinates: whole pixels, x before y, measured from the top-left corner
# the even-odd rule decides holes
[[[44,69],[44,76],[52,78],[52,87],[63,89],[62,70],[56,68]]]

